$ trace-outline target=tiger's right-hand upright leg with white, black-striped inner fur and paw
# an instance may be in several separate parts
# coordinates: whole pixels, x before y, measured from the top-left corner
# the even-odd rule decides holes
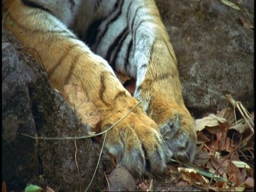
[[[194,121],[182,98],[177,60],[155,2],[121,2],[120,19],[110,17],[111,22],[102,22],[97,29],[109,27],[104,31],[107,38],[101,35],[103,43],[94,44],[94,51],[117,71],[137,79],[134,96],[159,126],[166,146],[178,159],[191,162],[196,146]]]

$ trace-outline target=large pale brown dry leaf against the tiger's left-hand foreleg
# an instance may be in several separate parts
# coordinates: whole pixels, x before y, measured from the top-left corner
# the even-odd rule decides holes
[[[81,88],[76,84],[68,84],[64,86],[64,91],[61,92],[62,97],[73,108],[76,115],[84,124],[89,124],[92,127],[100,121],[98,111]]]

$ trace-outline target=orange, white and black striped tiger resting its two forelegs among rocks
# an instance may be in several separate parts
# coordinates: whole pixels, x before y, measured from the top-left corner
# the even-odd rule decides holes
[[[145,175],[163,173],[173,158],[193,162],[194,119],[154,0],[3,0],[3,7],[3,26],[30,47],[51,86],[76,84],[94,103],[97,129],[138,105],[107,133],[116,167]],[[133,95],[115,71],[135,79]]]

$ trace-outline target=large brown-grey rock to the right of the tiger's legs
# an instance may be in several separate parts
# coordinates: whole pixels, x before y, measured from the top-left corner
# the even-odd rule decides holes
[[[225,94],[254,109],[254,1],[242,11],[217,0],[156,0],[178,60],[183,97],[195,117],[225,108]]]

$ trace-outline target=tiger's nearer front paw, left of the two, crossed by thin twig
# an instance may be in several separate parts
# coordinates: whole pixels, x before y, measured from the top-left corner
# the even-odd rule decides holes
[[[124,114],[118,111],[102,119],[107,129]],[[124,166],[133,175],[162,172],[172,153],[163,142],[158,126],[142,110],[135,110],[107,133],[105,147],[117,167]]]

